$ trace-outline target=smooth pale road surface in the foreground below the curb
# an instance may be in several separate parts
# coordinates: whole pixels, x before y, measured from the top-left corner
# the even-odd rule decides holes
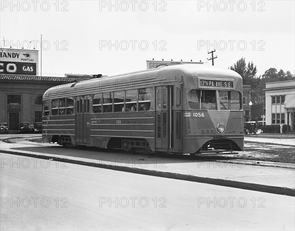
[[[1,154],[1,230],[294,230],[295,198]]]

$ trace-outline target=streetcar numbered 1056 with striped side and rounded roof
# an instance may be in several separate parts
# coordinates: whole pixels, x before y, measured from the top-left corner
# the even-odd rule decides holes
[[[243,151],[242,78],[180,64],[92,78],[43,95],[43,142],[127,152]]]

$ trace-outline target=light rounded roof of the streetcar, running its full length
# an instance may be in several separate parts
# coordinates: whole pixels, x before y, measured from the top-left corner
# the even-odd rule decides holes
[[[110,82],[114,85],[123,82],[131,81],[145,81],[152,78],[157,80],[169,79],[180,79],[181,76],[194,76],[194,77],[207,77],[207,78],[230,78],[230,79],[241,79],[240,75],[230,69],[219,68],[216,66],[204,65],[204,64],[178,64],[166,67],[158,67],[143,71],[130,72],[120,75],[92,78],[89,80],[71,82],[63,85],[55,86],[48,89],[44,96],[52,93],[65,92],[66,90],[83,89],[85,87],[99,87],[102,84],[109,84]],[[117,86],[118,89],[118,86]],[[109,88],[110,90],[110,88]]]

